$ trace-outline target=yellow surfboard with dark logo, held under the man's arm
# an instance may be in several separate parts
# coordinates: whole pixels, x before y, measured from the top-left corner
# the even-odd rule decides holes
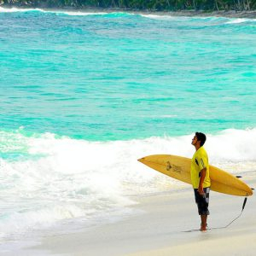
[[[138,161],[158,172],[191,184],[191,159],[189,158],[171,154],[154,154],[145,156]],[[210,166],[210,178],[213,191],[229,195],[253,195],[253,190],[246,183],[217,167]]]

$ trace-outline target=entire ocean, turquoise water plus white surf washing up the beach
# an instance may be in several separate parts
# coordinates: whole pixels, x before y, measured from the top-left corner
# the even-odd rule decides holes
[[[253,19],[0,8],[0,241],[188,188],[137,159],[191,157],[195,131],[212,165],[255,173],[255,42]]]

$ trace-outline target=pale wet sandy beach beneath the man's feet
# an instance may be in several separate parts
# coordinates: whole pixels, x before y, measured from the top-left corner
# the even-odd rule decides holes
[[[246,181],[255,187],[255,172]],[[200,222],[189,186],[133,200],[138,202],[135,208],[140,211],[135,216],[125,216],[119,222],[100,227],[43,237],[40,245],[26,248],[19,255],[255,255],[255,196],[248,198],[240,218],[222,228],[240,214],[243,198],[212,192],[208,219],[212,230],[207,232],[195,231]]]

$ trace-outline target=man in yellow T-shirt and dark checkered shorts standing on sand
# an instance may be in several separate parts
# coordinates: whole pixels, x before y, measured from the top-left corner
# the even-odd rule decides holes
[[[201,132],[195,132],[192,145],[195,147],[195,154],[191,161],[191,182],[195,192],[195,202],[198,213],[201,215],[201,231],[207,230],[207,216],[211,180],[209,176],[209,163],[207,151],[203,148],[207,137]]]

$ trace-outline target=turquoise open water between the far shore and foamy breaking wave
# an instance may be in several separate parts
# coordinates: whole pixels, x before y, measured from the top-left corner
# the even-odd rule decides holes
[[[77,14],[0,13],[1,129],[108,141],[255,127],[256,20]]]

